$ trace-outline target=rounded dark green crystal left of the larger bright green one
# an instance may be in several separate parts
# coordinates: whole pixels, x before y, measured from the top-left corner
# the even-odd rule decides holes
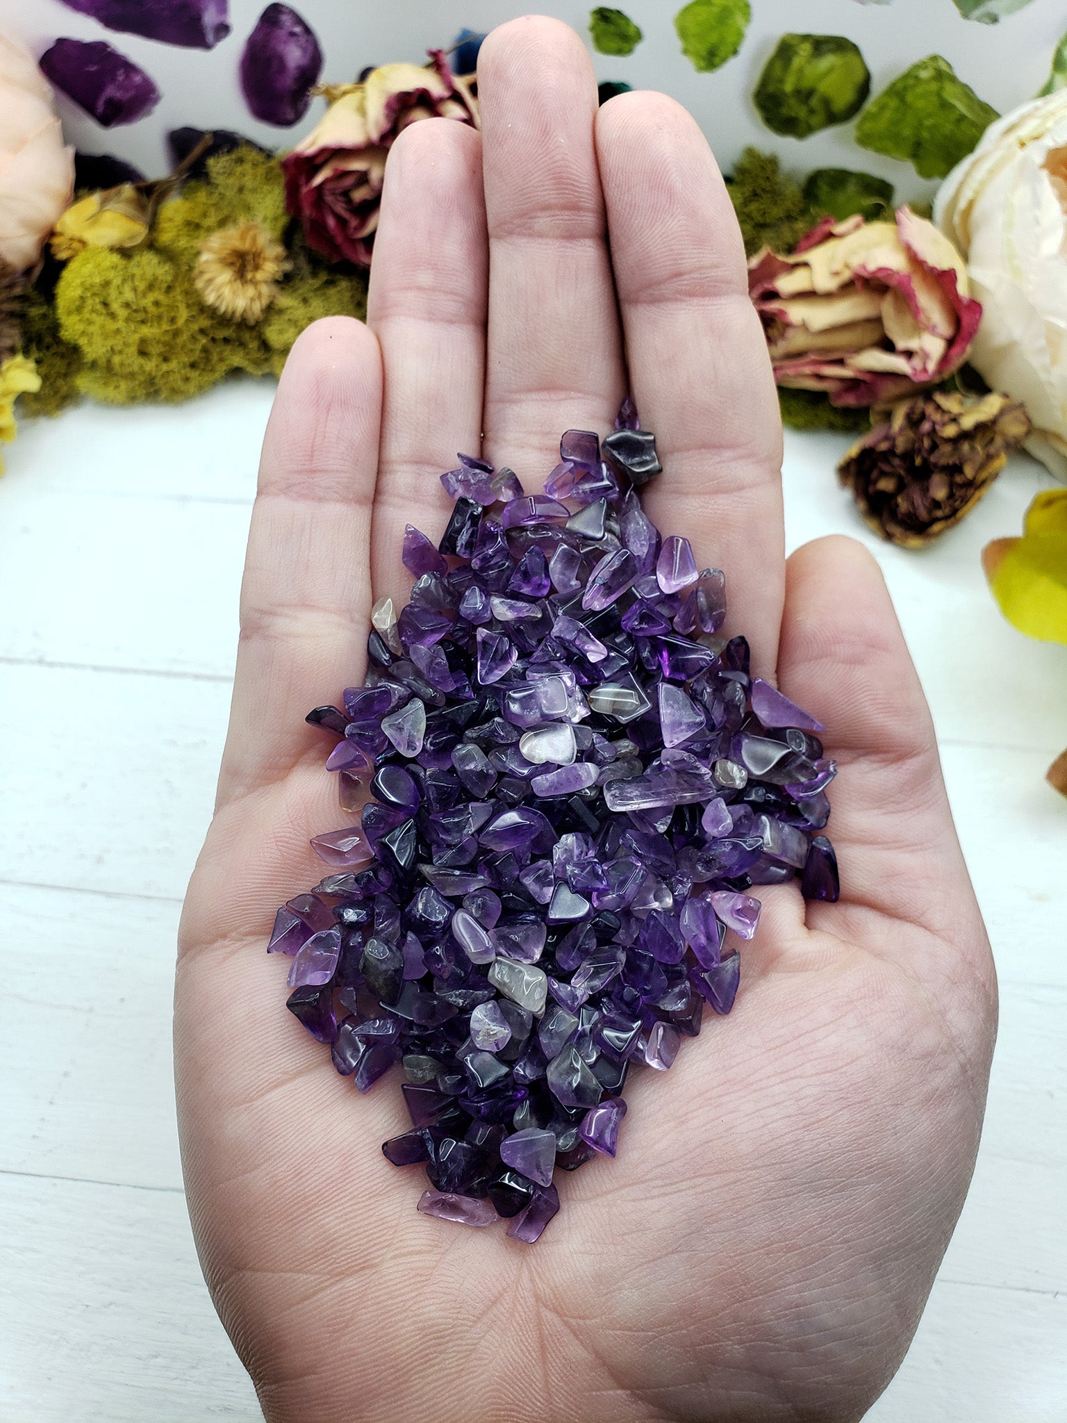
[[[784,34],[753,101],[775,134],[808,138],[844,124],[866,102],[871,73],[859,47],[839,34]]]

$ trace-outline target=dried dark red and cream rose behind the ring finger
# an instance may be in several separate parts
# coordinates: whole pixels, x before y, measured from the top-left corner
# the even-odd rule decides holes
[[[420,118],[478,125],[468,78],[454,75],[441,50],[431,64],[383,64],[361,84],[324,90],[331,101],[319,125],[282,161],[286,206],[309,246],[330,262],[370,266],[386,157]]]

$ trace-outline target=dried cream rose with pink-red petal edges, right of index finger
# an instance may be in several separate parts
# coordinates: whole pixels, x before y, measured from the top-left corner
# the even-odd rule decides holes
[[[895,222],[827,218],[790,256],[757,252],[748,292],[777,383],[835,406],[886,404],[950,376],[982,317],[963,259],[911,208]]]

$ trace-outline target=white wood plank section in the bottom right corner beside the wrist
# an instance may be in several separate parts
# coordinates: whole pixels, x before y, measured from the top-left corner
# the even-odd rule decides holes
[[[1067,1294],[939,1279],[866,1423],[1063,1423]]]

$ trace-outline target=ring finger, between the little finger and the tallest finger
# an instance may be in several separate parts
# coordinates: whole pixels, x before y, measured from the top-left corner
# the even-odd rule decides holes
[[[367,320],[381,343],[384,411],[371,546],[377,596],[405,601],[405,524],[434,541],[450,501],[441,474],[478,454],[488,246],[478,134],[411,124],[386,168]]]

